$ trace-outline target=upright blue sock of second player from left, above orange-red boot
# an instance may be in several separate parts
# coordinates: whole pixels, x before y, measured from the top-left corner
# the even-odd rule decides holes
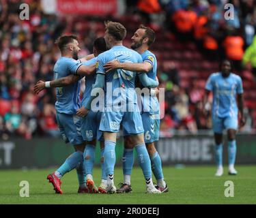
[[[94,168],[95,160],[95,146],[87,144],[83,153],[83,167],[85,168],[85,174],[91,174]]]

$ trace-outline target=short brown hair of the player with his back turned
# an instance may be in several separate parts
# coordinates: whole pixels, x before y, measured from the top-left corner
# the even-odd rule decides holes
[[[122,41],[126,37],[126,27],[124,27],[119,22],[106,21],[105,29],[109,31],[109,34],[112,35],[115,40]]]

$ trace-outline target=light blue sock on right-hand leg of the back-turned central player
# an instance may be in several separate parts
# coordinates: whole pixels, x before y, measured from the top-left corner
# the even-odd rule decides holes
[[[135,149],[137,151],[137,157],[139,166],[141,166],[141,169],[143,171],[144,177],[146,180],[152,177],[151,173],[151,163],[150,163],[150,155],[147,153],[147,149],[145,146],[145,143],[137,144],[135,146]]]

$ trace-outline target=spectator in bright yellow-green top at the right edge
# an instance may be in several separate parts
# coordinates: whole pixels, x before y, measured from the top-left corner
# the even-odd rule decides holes
[[[251,65],[252,73],[256,81],[256,36],[253,38],[253,44],[248,46],[244,52],[244,57],[242,58],[243,66]]]

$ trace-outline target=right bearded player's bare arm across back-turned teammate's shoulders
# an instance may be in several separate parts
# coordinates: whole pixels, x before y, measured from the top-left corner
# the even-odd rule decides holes
[[[104,65],[104,68],[107,69],[106,73],[113,70],[113,69],[126,69],[132,72],[142,72],[147,73],[150,72],[152,69],[152,64],[149,62],[143,62],[143,63],[120,63],[118,60],[109,61]]]

